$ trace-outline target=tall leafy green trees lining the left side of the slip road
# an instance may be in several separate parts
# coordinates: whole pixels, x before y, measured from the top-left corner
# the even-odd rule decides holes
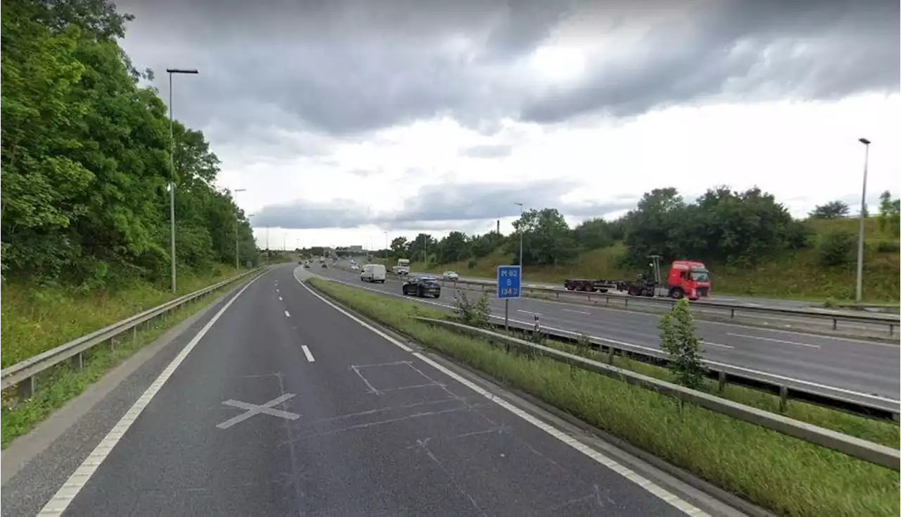
[[[202,132],[176,123],[116,42],[105,0],[0,3],[0,278],[85,289],[169,275],[168,182],[180,270],[256,260],[247,217],[215,187]]]

